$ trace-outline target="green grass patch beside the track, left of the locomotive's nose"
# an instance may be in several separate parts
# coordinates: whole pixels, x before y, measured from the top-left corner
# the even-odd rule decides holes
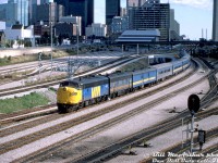
[[[46,105],[50,102],[45,96],[32,92],[23,97],[0,100],[0,113],[10,114],[34,106]]]

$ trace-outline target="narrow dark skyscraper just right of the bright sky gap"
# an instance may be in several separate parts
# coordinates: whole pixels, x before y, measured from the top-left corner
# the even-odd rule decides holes
[[[120,0],[106,0],[107,25],[111,25],[113,16],[120,16]]]

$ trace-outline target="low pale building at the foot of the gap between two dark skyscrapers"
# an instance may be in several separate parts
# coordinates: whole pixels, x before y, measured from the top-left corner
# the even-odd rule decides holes
[[[85,28],[86,38],[89,36],[106,37],[107,25],[100,23],[93,23],[92,26]]]

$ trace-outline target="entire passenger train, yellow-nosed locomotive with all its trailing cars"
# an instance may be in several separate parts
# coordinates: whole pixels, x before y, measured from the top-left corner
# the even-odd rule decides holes
[[[153,65],[146,70],[77,77],[62,82],[57,92],[58,111],[59,113],[66,113],[70,110],[78,110],[116,98],[177,75],[189,66],[190,55],[184,54],[179,60]]]

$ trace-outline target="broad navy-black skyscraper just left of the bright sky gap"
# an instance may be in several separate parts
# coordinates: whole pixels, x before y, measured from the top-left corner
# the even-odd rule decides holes
[[[82,35],[94,23],[94,0],[55,0],[65,7],[65,15],[82,16]]]

